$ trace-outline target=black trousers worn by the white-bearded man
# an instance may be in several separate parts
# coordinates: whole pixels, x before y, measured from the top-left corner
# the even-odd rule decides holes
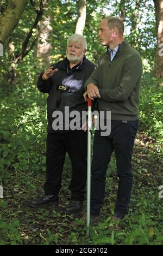
[[[87,175],[87,132],[83,130],[66,134],[48,133],[45,193],[59,194],[66,152],[72,163],[71,199],[83,201]]]

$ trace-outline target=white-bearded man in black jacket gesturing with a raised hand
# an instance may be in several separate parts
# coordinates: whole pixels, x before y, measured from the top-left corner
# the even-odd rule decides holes
[[[83,35],[73,34],[67,40],[66,58],[41,73],[37,88],[47,97],[47,147],[45,195],[32,199],[30,206],[58,206],[61,177],[68,152],[72,163],[72,177],[69,189],[71,198],[65,207],[66,213],[76,213],[83,207],[86,186],[87,133],[82,129],[71,130],[66,121],[54,126],[57,113],[70,116],[71,111],[87,110],[83,93],[85,81],[89,78],[95,64],[85,57],[86,39]],[[69,113],[65,113],[68,108]],[[81,115],[82,116],[82,115]],[[67,118],[65,118],[67,120]],[[71,118],[70,118],[71,119]],[[71,120],[70,120],[71,121]],[[82,127],[82,120],[79,120]]]

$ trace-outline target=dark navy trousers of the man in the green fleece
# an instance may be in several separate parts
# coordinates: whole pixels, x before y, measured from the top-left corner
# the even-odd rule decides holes
[[[117,175],[119,177],[115,215],[123,218],[128,212],[133,182],[131,157],[138,126],[139,120],[111,121],[109,136],[101,136],[101,130],[95,131],[91,168],[92,215],[99,214],[104,201],[106,170],[113,151],[115,151]]]

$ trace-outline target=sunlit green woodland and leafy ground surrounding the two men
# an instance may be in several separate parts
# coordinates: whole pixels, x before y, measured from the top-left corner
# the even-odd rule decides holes
[[[30,197],[43,193],[45,181],[46,95],[36,89],[41,70],[65,57],[66,40],[84,34],[86,56],[96,63],[105,51],[98,24],[118,16],[125,38],[142,56],[140,128],[133,155],[134,187],[123,230],[109,231],[117,178],[115,158],[106,178],[103,220],[85,236],[73,229],[63,205],[68,200],[70,159],[64,166],[60,209],[30,209]],[[163,0],[37,0],[0,3],[0,244],[161,245],[162,230],[162,79]],[[1,45],[1,46],[2,46]],[[65,200],[66,199],[66,200]],[[49,217],[50,216],[50,217]]]

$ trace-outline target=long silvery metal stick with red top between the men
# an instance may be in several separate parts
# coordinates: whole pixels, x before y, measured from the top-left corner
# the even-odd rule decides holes
[[[86,235],[89,236],[90,208],[91,208],[91,135],[92,135],[92,100],[88,98],[88,118],[87,118],[87,200],[86,200]]]

